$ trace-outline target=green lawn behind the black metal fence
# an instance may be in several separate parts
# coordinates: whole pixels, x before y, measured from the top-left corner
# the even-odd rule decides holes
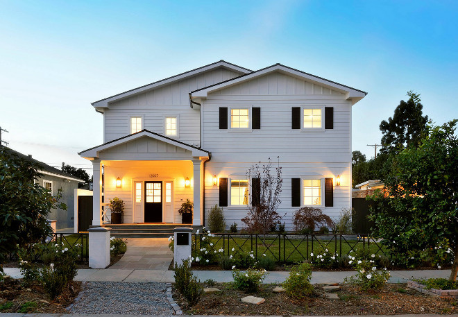
[[[278,235],[266,237],[265,242],[263,240],[262,234],[253,234],[252,236],[216,235],[210,238],[210,241],[214,244],[211,248],[217,251],[222,248],[224,250],[223,254],[225,255],[233,255],[237,251],[250,252],[253,250],[257,257],[265,253],[278,262],[303,261],[303,259],[307,259],[307,255],[310,256],[310,253],[316,253],[324,249],[328,249],[328,252],[331,253],[337,252],[339,255],[348,255],[351,250],[357,252],[363,248],[375,255],[384,254],[382,252],[384,248],[380,243],[378,243],[378,245],[382,250],[378,248],[373,239],[370,239],[368,243],[367,238],[364,239],[363,243],[363,239],[358,240],[355,239],[355,237],[345,237],[341,239],[339,235],[337,235],[336,241],[333,235],[314,236],[313,238],[312,235],[309,235],[307,239],[307,236],[287,234],[286,236],[280,236],[280,243]],[[193,237],[193,242],[194,241],[195,236]],[[197,237],[197,247],[201,248],[199,237]],[[232,251],[232,248],[235,250]],[[221,253],[219,252],[219,254]]]

